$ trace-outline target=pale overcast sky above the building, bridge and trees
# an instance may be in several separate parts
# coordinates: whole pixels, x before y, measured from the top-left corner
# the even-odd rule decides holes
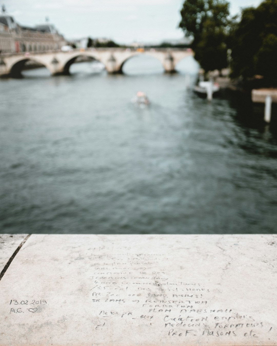
[[[258,0],[231,0],[231,13]],[[3,0],[2,0],[3,3]],[[161,42],[183,37],[178,29],[181,0],[6,0],[22,25],[50,22],[65,38],[107,37],[118,43]]]

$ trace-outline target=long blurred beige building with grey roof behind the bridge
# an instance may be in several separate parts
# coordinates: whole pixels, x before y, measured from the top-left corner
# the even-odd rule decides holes
[[[0,54],[59,51],[65,39],[48,22],[34,28],[19,25],[5,10],[0,13]]]

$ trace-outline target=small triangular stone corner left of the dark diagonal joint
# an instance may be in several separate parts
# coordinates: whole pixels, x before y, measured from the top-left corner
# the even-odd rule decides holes
[[[27,234],[0,234],[0,272]]]

